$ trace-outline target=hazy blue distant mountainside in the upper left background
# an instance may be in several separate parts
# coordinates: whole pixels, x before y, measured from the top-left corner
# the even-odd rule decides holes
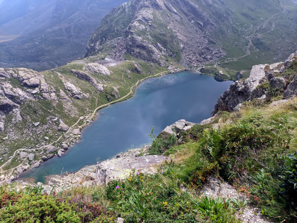
[[[44,70],[83,56],[86,43],[102,17],[123,2],[3,0],[0,67]]]

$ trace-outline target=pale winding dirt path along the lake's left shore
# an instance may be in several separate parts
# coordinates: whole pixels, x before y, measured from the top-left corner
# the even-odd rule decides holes
[[[181,71],[182,69],[179,69],[178,71]],[[94,110],[94,112],[92,113],[92,114],[86,114],[86,115],[84,115],[84,116],[81,116],[79,119],[78,119],[78,121],[77,122],[75,122],[75,124],[73,124],[72,126],[70,126],[69,127],[69,129],[67,130],[67,132],[65,132],[64,134],[62,134],[56,141],[54,141],[54,142],[52,142],[52,143],[50,143],[50,144],[48,144],[48,145],[46,145],[46,146],[43,146],[43,148],[46,148],[46,147],[48,147],[49,145],[52,145],[53,143],[57,143],[64,135],[66,135],[66,134],[68,134],[81,120],[83,120],[85,117],[88,117],[88,119],[91,119],[91,118],[93,118],[94,116],[96,116],[96,114],[97,114],[97,111],[99,110],[99,109],[101,109],[101,108],[103,108],[103,107],[107,107],[108,105],[111,105],[111,104],[114,104],[114,103],[116,103],[116,102],[119,102],[119,101],[121,101],[121,100],[123,100],[123,99],[125,99],[125,98],[127,98],[130,94],[132,94],[132,92],[133,92],[133,88],[135,88],[135,87],[137,87],[143,80],[146,80],[146,79],[148,79],[148,78],[152,78],[152,77],[156,77],[156,76],[158,76],[158,75],[162,75],[163,73],[165,73],[165,72],[171,72],[171,71],[169,71],[169,70],[166,70],[166,71],[163,71],[163,72],[160,72],[160,73],[158,73],[158,74],[156,74],[156,75],[151,75],[151,76],[149,76],[149,77],[146,77],[146,78],[143,78],[143,79],[141,79],[141,80],[138,80],[136,83],[135,83],[135,85],[133,85],[131,88],[130,88],[130,92],[128,93],[128,94],[126,94],[125,96],[123,96],[123,97],[121,97],[120,99],[118,99],[118,100],[116,100],[116,101],[112,101],[112,102],[109,102],[109,103],[107,103],[107,104],[104,104],[104,105],[100,105],[99,107],[96,107],[95,108],[95,110]],[[94,95],[93,95],[94,96]],[[97,102],[96,102],[96,106],[97,106]],[[81,127],[83,127],[83,126],[85,126],[86,125],[86,122],[83,124],[83,125],[81,125],[81,126],[77,126],[78,128],[81,128]],[[7,171],[9,171],[9,170],[11,170],[11,172],[10,172],[10,174],[9,175],[11,175],[12,173],[13,173],[13,170],[15,170],[16,168],[18,168],[18,167],[20,167],[22,164],[23,164],[23,162],[20,164],[20,165],[18,165],[17,167],[13,167],[12,169],[9,169],[9,170],[3,170],[3,168],[5,167],[5,166],[7,166],[8,164],[10,164],[11,163],[11,161],[12,161],[12,159],[16,156],[16,154],[17,154],[17,152],[18,151],[30,151],[31,149],[17,149],[17,150],[15,150],[15,152],[13,153],[13,155],[10,157],[10,159],[8,159],[4,164],[2,164],[1,166],[0,166],[0,170],[1,170],[1,173],[3,174],[3,173],[5,173],[5,172],[7,172]],[[25,160],[25,159],[24,159]],[[7,177],[9,177],[9,175],[7,175]]]

